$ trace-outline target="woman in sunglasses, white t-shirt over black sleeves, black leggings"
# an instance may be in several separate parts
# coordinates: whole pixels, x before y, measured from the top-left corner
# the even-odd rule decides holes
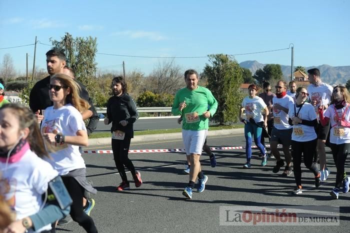
[[[315,176],[315,186],[321,184],[320,174],[317,165],[313,162],[313,151],[317,145],[317,135],[315,127],[317,125],[317,116],[313,106],[305,102],[308,93],[306,88],[298,87],[295,93],[296,102],[289,104],[289,124],[292,125],[291,133],[291,156],[293,158],[294,178],[296,188],[293,194],[302,193],[301,185],[301,154],[305,166],[313,172]]]

